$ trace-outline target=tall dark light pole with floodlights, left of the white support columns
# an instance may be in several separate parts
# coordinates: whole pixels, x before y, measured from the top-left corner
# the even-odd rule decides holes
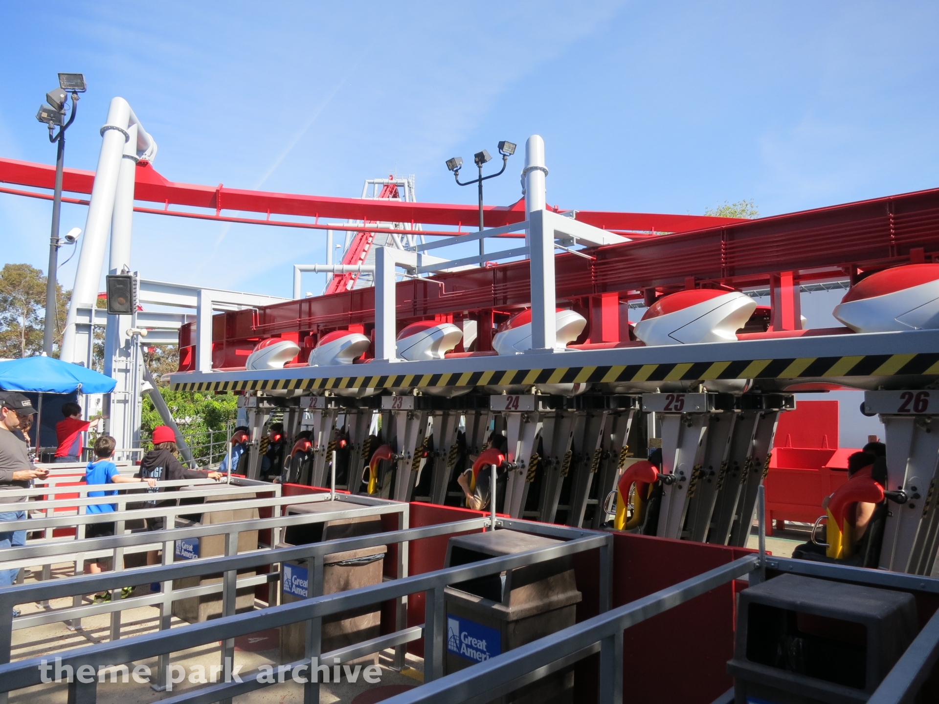
[[[65,120],[66,102],[71,92],[71,115]],[[53,227],[49,239],[49,271],[46,276],[46,320],[42,337],[42,351],[49,357],[53,354],[55,333],[55,298],[57,293],[56,269],[58,268],[59,213],[62,209],[62,171],[65,164],[65,130],[75,121],[78,94],[85,92],[85,76],[81,73],[59,73],[59,87],[46,93],[48,104],[39,106],[36,119],[49,127],[49,141],[58,143],[55,153],[55,191],[53,195]],[[58,133],[54,134],[58,125]]]

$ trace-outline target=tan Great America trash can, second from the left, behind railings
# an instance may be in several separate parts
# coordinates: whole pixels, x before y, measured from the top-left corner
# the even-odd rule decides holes
[[[287,515],[321,513],[323,520],[286,528],[284,542],[278,547],[357,538],[382,532],[379,515],[329,519],[329,513],[349,508],[355,508],[355,506],[336,501],[288,506]],[[327,555],[323,564],[323,594],[334,594],[339,591],[380,584],[387,550],[385,545],[376,545],[361,550],[347,550]],[[281,603],[290,604],[311,598],[313,596],[311,586],[308,560],[285,560],[281,565]],[[376,638],[380,635],[380,631],[381,605],[367,605],[360,609],[334,614],[323,619],[320,652],[330,652],[369,638]],[[281,626],[281,662],[292,663],[302,659],[305,654],[306,623],[300,621]],[[353,662],[377,665],[378,655],[374,653]]]

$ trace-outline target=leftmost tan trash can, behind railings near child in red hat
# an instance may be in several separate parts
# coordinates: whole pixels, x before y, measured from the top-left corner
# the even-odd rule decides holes
[[[253,494],[219,494],[218,496],[206,497],[206,503],[216,501],[238,501],[247,498],[254,498]],[[212,513],[203,513],[200,521],[192,521],[191,526],[212,526],[220,523],[232,523],[234,521],[256,521],[258,519],[257,509],[232,509],[230,511],[215,511]],[[187,522],[177,518],[177,528],[186,526]],[[239,553],[248,552],[257,549],[257,530],[242,530],[238,536]],[[225,554],[225,535],[206,535],[202,538],[187,538],[177,540],[174,546],[174,561],[183,559],[214,558]],[[241,571],[239,576],[254,576],[254,570]],[[173,589],[186,589],[188,587],[199,587],[208,584],[218,584],[222,581],[222,574],[205,574],[202,576],[184,577],[183,579],[173,580]],[[254,609],[254,587],[241,587],[236,590],[235,610],[236,613],[252,611]],[[222,592],[215,594],[206,594],[203,596],[193,596],[188,599],[177,599],[173,602],[173,615],[177,619],[185,620],[190,623],[200,623],[209,619],[217,619],[222,616]]]

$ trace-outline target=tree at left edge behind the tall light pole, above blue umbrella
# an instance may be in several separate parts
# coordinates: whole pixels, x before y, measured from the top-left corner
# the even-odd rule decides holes
[[[54,355],[62,342],[70,292],[57,287]],[[0,357],[31,357],[42,352],[45,327],[46,277],[28,264],[0,269]]]

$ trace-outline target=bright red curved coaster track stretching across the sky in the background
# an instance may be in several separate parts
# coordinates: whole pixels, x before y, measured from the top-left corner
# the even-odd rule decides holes
[[[420,222],[422,224],[473,226],[479,222],[479,208],[475,205],[440,203],[408,203],[391,200],[365,200],[362,198],[332,198],[322,195],[298,195],[245,191],[218,186],[197,186],[175,183],[160,175],[146,161],[137,169],[134,199],[159,203],[163,207],[187,206],[222,210],[304,216],[310,218],[341,218],[369,222]],[[90,193],[95,174],[91,171],[66,169],[63,190]],[[29,161],[0,158],[0,182],[20,186],[51,189],[54,187],[55,167]],[[145,210],[145,212],[156,212]],[[158,213],[159,214],[159,213]],[[176,211],[167,213],[182,215]],[[211,219],[204,213],[195,217]],[[524,204],[512,206],[486,206],[485,223],[490,227],[521,222],[525,219]],[[636,230],[657,232],[685,232],[708,224],[737,222],[733,218],[709,218],[703,215],[660,215],[654,213],[616,213],[590,210],[577,211],[577,220],[608,230]],[[260,224],[264,224],[263,222]],[[271,222],[275,224],[275,222]],[[279,223],[278,223],[279,224]]]

